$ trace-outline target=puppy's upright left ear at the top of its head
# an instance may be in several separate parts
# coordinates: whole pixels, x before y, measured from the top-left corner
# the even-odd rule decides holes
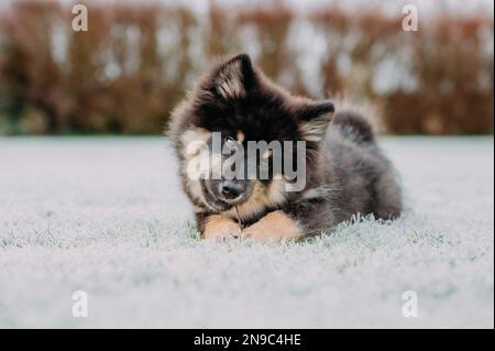
[[[255,73],[248,54],[235,55],[221,63],[212,75],[215,91],[228,100],[245,96],[255,84]]]

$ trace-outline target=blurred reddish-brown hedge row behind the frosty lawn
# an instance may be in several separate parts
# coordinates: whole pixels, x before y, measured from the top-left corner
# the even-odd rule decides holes
[[[56,1],[1,10],[0,133],[160,133],[209,57],[237,52],[294,92],[374,102],[391,133],[493,133],[490,14],[404,32],[371,7],[87,4],[88,32]]]

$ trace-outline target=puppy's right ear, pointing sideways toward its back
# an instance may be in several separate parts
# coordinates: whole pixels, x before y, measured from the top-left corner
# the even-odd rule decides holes
[[[299,132],[302,140],[318,142],[324,138],[336,111],[330,101],[307,105],[300,109]]]

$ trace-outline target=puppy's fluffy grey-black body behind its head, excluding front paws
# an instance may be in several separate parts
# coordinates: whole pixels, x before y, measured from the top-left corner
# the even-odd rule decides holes
[[[323,230],[356,213],[382,219],[400,215],[397,176],[377,146],[372,125],[360,112],[336,113],[316,162],[317,177],[305,194],[306,204],[311,205],[299,217],[304,224]],[[299,206],[298,211],[304,208]]]

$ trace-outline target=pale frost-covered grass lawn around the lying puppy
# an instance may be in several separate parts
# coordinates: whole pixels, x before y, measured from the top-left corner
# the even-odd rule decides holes
[[[493,328],[493,138],[384,145],[402,219],[262,245],[196,239],[163,139],[0,139],[0,327]]]

